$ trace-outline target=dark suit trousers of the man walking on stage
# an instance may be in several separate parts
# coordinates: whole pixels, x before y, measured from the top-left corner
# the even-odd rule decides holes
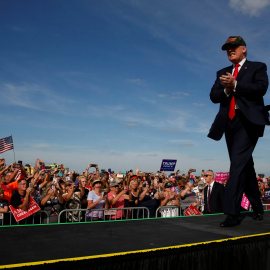
[[[243,193],[255,213],[263,213],[252,153],[264,126],[249,122],[240,110],[229,120],[225,138],[230,157],[230,178],[225,187],[224,213],[239,215]]]

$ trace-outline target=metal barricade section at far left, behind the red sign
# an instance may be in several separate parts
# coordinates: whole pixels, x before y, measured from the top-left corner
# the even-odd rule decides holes
[[[16,222],[15,218],[13,217],[13,214],[11,211],[8,211],[7,213],[3,213],[2,215],[2,226],[3,225],[27,225],[27,224],[42,224],[49,223],[49,214],[45,210],[39,210],[35,214],[29,216],[28,218],[25,218],[19,222]],[[1,223],[0,223],[1,225]]]

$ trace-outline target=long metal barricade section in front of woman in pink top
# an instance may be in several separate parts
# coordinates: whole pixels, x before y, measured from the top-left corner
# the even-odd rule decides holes
[[[149,218],[150,212],[147,207],[124,207],[124,208],[98,208],[98,209],[64,209],[58,215],[58,223],[85,222],[117,219],[144,219]]]

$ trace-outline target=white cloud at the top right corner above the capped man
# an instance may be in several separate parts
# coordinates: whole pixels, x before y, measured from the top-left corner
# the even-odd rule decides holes
[[[250,16],[259,16],[270,5],[270,0],[230,0],[232,9]]]

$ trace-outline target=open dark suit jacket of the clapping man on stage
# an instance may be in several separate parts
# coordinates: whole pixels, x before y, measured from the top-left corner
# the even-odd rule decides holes
[[[212,124],[208,137],[220,140],[225,132],[229,120],[230,97],[224,93],[224,86],[220,83],[219,77],[232,73],[233,66],[226,67],[217,72],[216,81],[210,92],[210,99],[213,103],[220,103],[219,112]],[[237,75],[235,102],[243,115],[249,122],[258,125],[258,137],[263,136],[265,125],[269,125],[269,114],[264,106],[263,96],[268,87],[268,76],[266,65],[261,62],[246,60]]]

